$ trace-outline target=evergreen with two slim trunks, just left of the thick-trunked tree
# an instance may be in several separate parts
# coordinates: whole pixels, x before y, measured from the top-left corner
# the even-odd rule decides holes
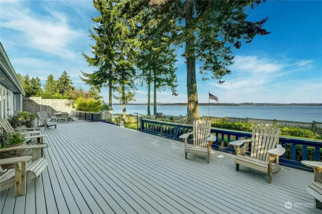
[[[143,24],[143,23],[142,23]],[[169,44],[167,32],[157,28],[157,23],[141,32],[140,57],[138,67],[141,69],[140,79],[145,81],[148,88],[147,114],[150,115],[150,87],[153,83],[153,115],[156,115],[156,91],[169,87],[173,95],[176,91],[177,76],[175,74],[176,54]]]

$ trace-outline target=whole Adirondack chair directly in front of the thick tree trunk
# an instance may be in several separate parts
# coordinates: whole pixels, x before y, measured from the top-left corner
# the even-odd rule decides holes
[[[208,163],[212,154],[211,145],[216,141],[216,136],[210,134],[209,121],[197,120],[193,122],[193,132],[181,135],[185,143],[185,157],[188,158],[188,153],[207,155]],[[193,135],[193,144],[188,144],[188,137]]]

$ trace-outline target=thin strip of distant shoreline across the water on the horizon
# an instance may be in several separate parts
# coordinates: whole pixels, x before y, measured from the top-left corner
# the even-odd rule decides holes
[[[113,105],[120,105],[115,103]],[[127,105],[147,105],[147,103],[127,103]],[[153,104],[150,104],[153,105]],[[157,103],[156,105],[181,105],[187,106],[187,103]],[[199,103],[200,106],[208,106],[208,103]],[[210,106],[322,106],[322,103],[210,103]]]

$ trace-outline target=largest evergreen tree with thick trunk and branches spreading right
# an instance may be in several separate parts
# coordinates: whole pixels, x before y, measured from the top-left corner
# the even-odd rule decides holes
[[[196,81],[196,60],[203,63],[199,72],[203,80],[215,79],[223,83],[222,77],[230,74],[227,66],[233,63],[232,48],[239,49],[242,41],[250,43],[256,35],[268,35],[263,25],[268,18],[249,21],[246,8],[261,4],[255,1],[197,1],[197,0],[137,0],[128,3],[127,13],[135,15],[154,7],[156,16],[162,18],[163,27],[172,28],[172,42],[185,45],[183,57],[187,64],[188,123],[199,118]],[[207,72],[210,71],[210,76]]]

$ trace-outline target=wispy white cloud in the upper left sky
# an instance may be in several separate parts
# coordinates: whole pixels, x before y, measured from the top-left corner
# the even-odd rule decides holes
[[[1,27],[24,34],[24,45],[61,57],[75,57],[69,45],[84,35],[68,25],[66,16],[47,9],[48,16],[36,16],[20,2],[1,2]]]

